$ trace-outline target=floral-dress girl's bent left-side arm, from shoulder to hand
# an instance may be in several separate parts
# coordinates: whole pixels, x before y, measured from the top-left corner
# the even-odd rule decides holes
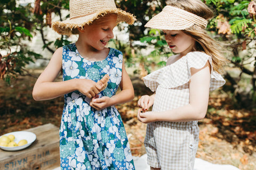
[[[92,80],[72,79],[54,82],[61,69],[62,47],[54,52],[49,64],[37,79],[33,89],[33,98],[35,100],[53,99],[75,90],[79,90],[89,98],[99,93],[95,82]]]

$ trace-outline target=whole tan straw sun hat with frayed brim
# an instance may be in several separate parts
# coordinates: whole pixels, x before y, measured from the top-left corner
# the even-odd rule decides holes
[[[69,19],[52,23],[53,30],[61,35],[70,35],[74,29],[110,13],[117,14],[117,23],[125,21],[133,24],[136,20],[132,14],[117,8],[114,0],[70,0],[69,12]]]

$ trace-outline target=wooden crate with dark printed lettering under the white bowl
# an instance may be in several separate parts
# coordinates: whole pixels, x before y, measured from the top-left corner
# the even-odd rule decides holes
[[[28,148],[19,151],[0,149],[1,170],[52,170],[60,166],[59,128],[45,124],[25,131],[36,134]]]

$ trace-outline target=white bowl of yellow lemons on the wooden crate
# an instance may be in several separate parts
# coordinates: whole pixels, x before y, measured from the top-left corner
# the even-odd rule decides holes
[[[15,151],[27,148],[36,140],[33,132],[17,131],[0,136],[0,148],[7,151]]]

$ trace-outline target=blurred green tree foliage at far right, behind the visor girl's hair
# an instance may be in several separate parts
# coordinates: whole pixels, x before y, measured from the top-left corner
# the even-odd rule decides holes
[[[225,78],[238,107],[255,108],[256,101],[256,1],[206,0],[215,9],[209,31],[225,42],[230,64]]]

